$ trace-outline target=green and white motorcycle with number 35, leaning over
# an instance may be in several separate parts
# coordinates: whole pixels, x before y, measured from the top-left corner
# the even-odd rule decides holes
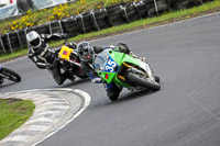
[[[94,69],[107,83],[129,90],[161,89],[160,77],[153,74],[148,64],[124,53],[105,49],[97,55]],[[114,101],[118,97],[110,98]]]

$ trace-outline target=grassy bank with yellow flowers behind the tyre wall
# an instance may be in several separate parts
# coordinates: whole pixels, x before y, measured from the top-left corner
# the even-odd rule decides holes
[[[48,10],[43,9],[40,11],[28,11],[22,18],[0,23],[0,34],[40,25],[50,21],[62,20],[92,9],[101,9],[129,1],[132,0],[78,0],[75,3],[61,4]]]

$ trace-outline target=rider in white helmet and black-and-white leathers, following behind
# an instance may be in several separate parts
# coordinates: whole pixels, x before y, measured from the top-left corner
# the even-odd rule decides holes
[[[67,78],[75,80],[67,72],[61,72],[61,64],[57,56],[59,49],[55,50],[48,46],[47,42],[62,38],[64,34],[38,34],[35,31],[31,31],[26,34],[28,47],[29,47],[29,58],[35,63],[40,69],[47,69],[55,81],[62,85]],[[76,48],[75,43],[69,43],[67,46]]]

